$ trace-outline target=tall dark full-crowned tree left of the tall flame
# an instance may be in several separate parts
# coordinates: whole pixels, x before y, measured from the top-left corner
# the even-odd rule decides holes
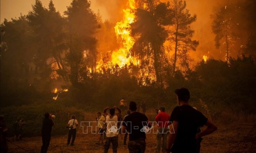
[[[79,82],[81,73],[86,73],[88,67],[96,65],[97,40],[94,34],[99,26],[90,5],[87,0],[73,0],[64,12],[68,20],[67,59],[70,64],[70,81],[73,85]]]

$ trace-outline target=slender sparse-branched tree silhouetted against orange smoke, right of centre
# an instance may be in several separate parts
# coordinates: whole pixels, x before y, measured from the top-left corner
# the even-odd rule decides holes
[[[196,21],[196,15],[191,16],[186,8],[186,1],[172,0],[171,9],[174,13],[172,22],[173,27],[170,27],[170,41],[174,48],[173,70],[175,71],[177,62],[181,66],[188,67],[188,50],[196,50],[199,42],[191,40],[194,30],[191,30],[191,23]],[[173,47],[174,46],[174,47]]]

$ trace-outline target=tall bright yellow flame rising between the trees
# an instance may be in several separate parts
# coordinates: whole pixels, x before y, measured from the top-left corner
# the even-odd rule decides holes
[[[129,49],[134,45],[134,40],[130,37],[130,24],[134,22],[135,1],[129,0],[130,8],[123,9],[123,19],[117,22],[115,26],[115,32],[118,38],[121,38],[122,47],[113,51],[111,58],[113,64],[118,64],[120,67],[124,65],[130,65],[130,62],[136,64],[136,59],[130,56]],[[127,58],[129,57],[129,58]]]

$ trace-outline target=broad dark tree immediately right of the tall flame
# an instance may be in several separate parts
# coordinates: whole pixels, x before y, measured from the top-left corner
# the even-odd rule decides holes
[[[168,38],[165,26],[171,24],[171,18],[169,3],[153,0],[139,6],[135,22],[131,24],[131,36],[135,39],[130,49],[131,55],[140,60],[142,77],[156,78],[156,83],[161,87],[162,70],[166,62],[163,44]]]

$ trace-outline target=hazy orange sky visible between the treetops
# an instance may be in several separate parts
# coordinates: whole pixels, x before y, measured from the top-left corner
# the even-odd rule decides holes
[[[70,6],[72,0],[52,0],[57,11],[63,15],[63,12],[67,10],[67,6]],[[89,0],[88,0],[89,1]],[[96,13],[100,10],[103,20],[110,19],[112,22],[120,21],[122,16],[122,7],[126,6],[128,0],[90,0],[91,8]],[[168,0],[161,0],[168,1]],[[169,0],[170,1],[170,0]],[[35,0],[0,0],[0,19],[1,23],[6,18],[19,17],[27,15],[28,11],[32,10],[32,4],[35,4]],[[43,6],[48,8],[50,0],[41,0]],[[187,9],[191,15],[197,15],[197,21],[192,24],[195,30],[194,39],[199,40],[199,46],[196,52],[191,52],[194,58],[202,59],[203,55],[214,57],[215,59],[223,59],[224,54],[220,54],[220,51],[215,49],[214,37],[211,30],[210,15],[215,6],[219,6],[223,0],[186,0]]]

